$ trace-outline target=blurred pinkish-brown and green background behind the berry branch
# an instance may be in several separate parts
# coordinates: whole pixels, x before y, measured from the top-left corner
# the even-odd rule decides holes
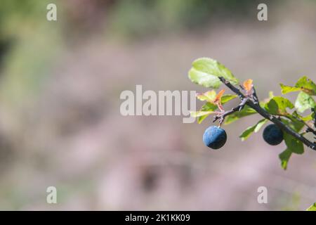
[[[57,21],[46,20],[49,3]],[[206,91],[187,78],[202,56],[254,79],[259,98],[279,95],[281,82],[315,80],[315,21],[312,0],[1,0],[0,209],[305,210],[316,153],[305,148],[284,171],[284,143],[238,137],[258,115],[225,127],[228,142],[211,151],[211,119],[124,117],[119,96],[136,84]],[[46,203],[48,186],[58,204]]]

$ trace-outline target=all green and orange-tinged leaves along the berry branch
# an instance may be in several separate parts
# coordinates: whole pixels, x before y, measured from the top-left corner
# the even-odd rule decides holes
[[[224,109],[222,105],[238,97],[232,94],[224,95],[223,90],[216,94],[214,89],[218,89],[222,84],[220,77],[223,77],[234,86],[241,87],[245,96],[254,94],[251,93],[251,88],[253,87],[251,79],[246,80],[243,85],[241,85],[239,80],[225,65],[211,58],[198,58],[195,60],[192,63],[192,68],[188,76],[195,84],[211,89],[203,94],[197,94],[197,98],[200,101],[204,101],[204,105],[202,105],[200,110],[191,112],[192,117],[197,117],[198,123],[204,121],[209,115],[223,113]],[[298,134],[305,135],[308,131],[315,131],[316,103],[313,96],[316,96],[316,84],[312,82],[310,78],[304,76],[298,79],[294,86],[285,84],[279,85],[281,87],[282,96],[274,96],[272,92],[270,92],[265,101],[259,102],[261,108],[270,115],[279,117],[279,120],[287,124],[287,126],[291,127],[291,129]],[[294,91],[298,92],[298,95],[296,101],[291,103],[284,95]],[[305,113],[306,110],[309,114],[303,116],[302,113]],[[254,108],[251,108],[249,105],[244,105],[242,110],[233,112],[225,117],[225,124],[230,124],[242,117],[255,114],[257,114],[257,111],[254,110]],[[253,126],[247,127],[239,137],[242,141],[249,139],[251,134],[258,132],[266,122],[268,122],[266,118],[259,120]],[[304,127],[306,128],[305,131],[303,130]],[[291,155],[303,154],[304,146],[301,141],[287,132],[284,132],[284,142],[287,148],[279,154],[279,159],[281,160],[282,168],[287,169]]]

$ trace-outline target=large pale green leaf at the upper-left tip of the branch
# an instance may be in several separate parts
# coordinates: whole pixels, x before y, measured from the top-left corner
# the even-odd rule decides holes
[[[192,82],[214,89],[220,86],[221,82],[218,77],[224,77],[234,85],[238,84],[238,79],[232,75],[228,68],[225,68],[225,65],[211,58],[198,58],[192,63],[192,68],[189,71],[189,78]]]

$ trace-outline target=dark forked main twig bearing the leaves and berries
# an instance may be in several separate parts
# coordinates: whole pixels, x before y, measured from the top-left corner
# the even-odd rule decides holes
[[[316,142],[312,143],[308,139],[305,139],[305,137],[303,135],[298,134],[296,131],[291,129],[291,127],[287,126],[287,124],[284,124],[281,120],[279,120],[275,115],[270,115],[270,113],[268,113],[263,108],[261,108],[261,106],[258,103],[255,102],[255,99],[258,99],[257,96],[255,96],[255,98],[253,98],[253,99],[246,98],[246,96],[244,96],[244,94],[242,94],[242,92],[239,89],[237,89],[237,87],[235,87],[232,84],[230,84],[230,82],[227,81],[224,77],[219,77],[219,79],[231,91],[235,92],[235,94],[237,94],[237,96],[239,96],[239,98],[242,100],[242,103],[243,103],[244,99],[246,99],[244,105],[248,105],[250,108],[253,108],[254,110],[256,110],[256,112],[258,114],[260,114],[262,117],[264,117],[265,119],[270,120],[271,122],[276,124],[277,127],[282,129],[283,131],[287,132],[287,134],[290,134],[291,136],[294,136],[296,139],[298,139],[299,141],[304,143],[305,146],[308,146],[309,148],[312,148],[312,150],[316,150]],[[256,92],[254,91],[254,94],[255,93]],[[240,103],[236,108],[240,108],[240,105],[242,105],[242,103]],[[244,105],[242,107],[244,107]],[[220,117],[218,119],[225,118],[226,115],[234,113],[236,111],[236,110],[234,111],[234,109],[235,108],[232,108],[232,110],[229,110],[229,111],[223,113],[223,115],[220,115]],[[226,114],[226,113],[228,113],[228,114]],[[216,117],[214,118],[214,121],[218,120],[218,119],[216,119]]]

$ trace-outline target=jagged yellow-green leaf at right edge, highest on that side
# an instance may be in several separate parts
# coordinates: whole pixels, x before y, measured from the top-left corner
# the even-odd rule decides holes
[[[293,91],[304,91],[306,94],[310,94],[311,96],[316,95],[316,84],[306,76],[298,79],[295,86],[287,86],[284,84],[279,85],[281,86],[282,94],[287,94]]]

